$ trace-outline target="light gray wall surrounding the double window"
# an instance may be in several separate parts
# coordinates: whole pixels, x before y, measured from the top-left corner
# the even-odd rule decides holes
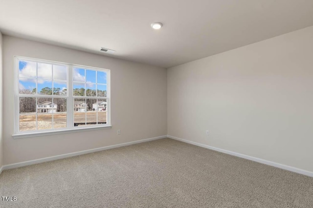
[[[13,139],[14,55],[111,69],[112,129]],[[167,134],[165,68],[5,35],[3,63],[4,165]]]

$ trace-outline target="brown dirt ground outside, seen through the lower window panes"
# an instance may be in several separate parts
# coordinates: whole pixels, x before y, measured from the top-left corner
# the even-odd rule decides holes
[[[107,111],[74,112],[74,123],[82,126],[107,122]],[[52,128],[52,113],[38,113],[38,129]],[[67,113],[53,113],[53,128],[67,127]],[[20,115],[20,131],[36,130],[36,113]]]

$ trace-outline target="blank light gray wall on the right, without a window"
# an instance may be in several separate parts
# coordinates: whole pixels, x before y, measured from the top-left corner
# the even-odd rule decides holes
[[[313,171],[313,26],[169,68],[167,79],[168,135]]]

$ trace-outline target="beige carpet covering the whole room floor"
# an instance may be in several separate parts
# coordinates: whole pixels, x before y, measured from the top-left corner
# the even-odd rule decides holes
[[[313,178],[171,139],[5,170],[0,207],[313,208]]]

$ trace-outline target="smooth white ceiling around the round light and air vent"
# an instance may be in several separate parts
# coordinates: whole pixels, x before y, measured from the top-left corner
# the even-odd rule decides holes
[[[0,0],[4,34],[166,68],[311,25],[313,0]]]

